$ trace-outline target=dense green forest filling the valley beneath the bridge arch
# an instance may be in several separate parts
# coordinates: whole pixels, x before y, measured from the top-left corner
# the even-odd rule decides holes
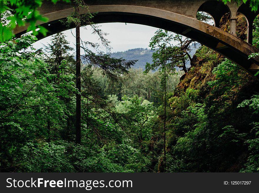
[[[253,37],[259,48],[258,17]],[[217,52],[159,29],[143,71],[81,42],[78,89],[79,58],[66,36],[40,50],[35,41],[26,34],[0,44],[1,172],[259,171],[258,80]]]

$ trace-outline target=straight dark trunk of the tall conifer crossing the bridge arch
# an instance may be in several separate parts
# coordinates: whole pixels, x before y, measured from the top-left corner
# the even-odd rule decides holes
[[[79,12],[77,8],[77,13]],[[80,25],[76,27],[76,143],[81,143],[81,58],[80,58]]]

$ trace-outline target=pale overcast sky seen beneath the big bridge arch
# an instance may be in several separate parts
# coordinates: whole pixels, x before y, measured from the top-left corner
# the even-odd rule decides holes
[[[104,32],[109,33],[107,39],[111,42],[111,52],[126,51],[132,48],[148,48],[150,39],[154,36],[155,31],[158,28],[144,26],[139,24],[125,24],[125,23],[105,23],[99,24],[100,29]],[[70,46],[75,48],[75,29],[64,31],[67,35],[67,40],[71,43]],[[98,42],[97,36],[91,34],[90,27],[87,30],[84,28],[80,29],[80,35],[82,40],[90,42]],[[33,47],[39,49],[42,44],[49,43],[51,36],[34,43]]]

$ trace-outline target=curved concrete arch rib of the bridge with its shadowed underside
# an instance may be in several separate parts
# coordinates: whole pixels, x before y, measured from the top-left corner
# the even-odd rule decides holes
[[[162,28],[168,31],[182,34],[183,36],[191,38],[217,51],[226,58],[238,64],[241,68],[243,68],[251,75],[254,75],[259,70],[258,58],[248,60],[248,56],[251,53],[258,52],[258,50],[250,44],[215,26],[211,26],[196,19],[180,14],[175,14],[169,11],[150,9],[152,8],[148,8],[147,10],[144,9],[144,11],[138,11],[137,9],[134,9],[134,12],[122,12],[116,11],[116,9],[115,11],[95,10],[93,12],[98,11],[98,14],[94,16],[93,22],[97,24],[122,22]],[[52,21],[41,24],[49,30],[47,36],[74,27],[71,26],[70,28],[68,28],[60,22],[60,20],[64,19],[65,17],[59,18],[60,16],[62,16],[62,14],[56,13],[56,15],[57,17],[55,19],[55,13],[53,13],[52,15],[48,14],[48,17],[50,16],[49,18],[52,18]],[[69,16],[69,14],[67,14],[67,16]],[[82,24],[82,26],[84,26],[84,24]],[[20,36],[26,33],[25,29],[26,28],[18,28],[14,33],[16,34],[16,36]],[[42,35],[38,36],[38,39],[42,38],[44,38]]]

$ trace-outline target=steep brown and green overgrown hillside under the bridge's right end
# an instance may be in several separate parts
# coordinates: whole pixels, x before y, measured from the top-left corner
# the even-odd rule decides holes
[[[259,118],[247,105],[257,101],[258,82],[205,46],[191,64],[169,99],[168,170],[256,171]]]

